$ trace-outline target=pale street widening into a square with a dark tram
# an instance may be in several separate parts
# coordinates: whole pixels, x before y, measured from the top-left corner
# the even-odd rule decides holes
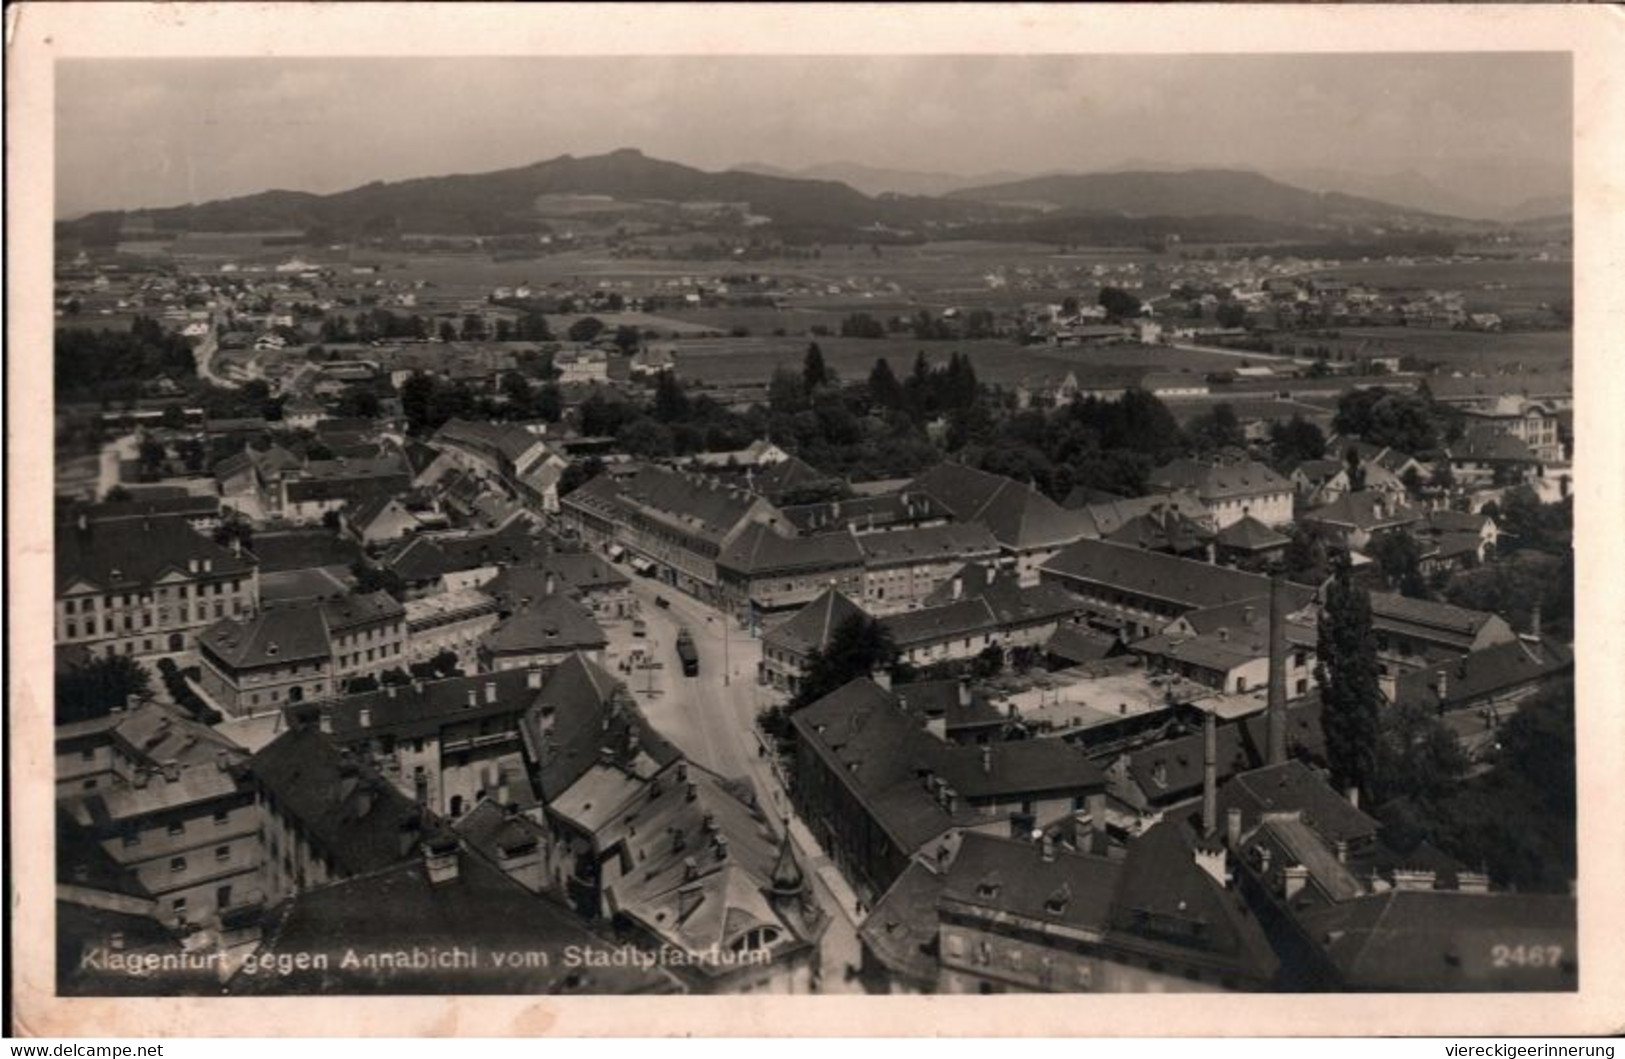
[[[821,947],[822,989],[856,992],[858,983],[847,978],[847,968],[858,966],[861,955],[856,897],[812,833],[796,819],[790,796],[774,773],[772,759],[762,754],[756,736],[756,715],[772,702],[772,692],[756,682],[762,658],[760,640],[733,627],[720,611],[670,585],[634,577],[632,591],[648,635],[635,638],[630,622],[608,627],[611,672],[627,682],[648,721],[689,760],[718,775],[746,780],[775,832],[785,817],[790,819],[790,835],[801,869],[830,918]],[[670,606],[656,606],[656,596],[663,596]],[[678,663],[676,638],[682,627],[692,633],[699,651],[700,669],[696,677],[684,677]],[[621,672],[621,661],[635,648],[648,651],[660,668]]]

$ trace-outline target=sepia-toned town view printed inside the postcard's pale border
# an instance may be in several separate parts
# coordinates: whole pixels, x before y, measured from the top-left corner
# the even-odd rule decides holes
[[[55,55],[46,989],[1601,983],[1576,62],[1410,47]]]

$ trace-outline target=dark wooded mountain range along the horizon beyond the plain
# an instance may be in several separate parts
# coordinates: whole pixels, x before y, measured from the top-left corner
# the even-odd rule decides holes
[[[1133,231],[1134,237],[1199,227],[1222,239],[1346,236],[1386,227],[1456,229],[1456,216],[1344,192],[1306,190],[1238,169],[1129,171],[1094,174],[986,174],[952,187],[946,174],[829,166],[809,172],[847,180],[783,174],[756,166],[708,172],[648,158],[635,149],[574,158],[484,174],[372,182],[333,195],[271,190],[240,198],[140,211],[102,211],[63,221],[65,236],[117,234],[133,218],[158,231],[301,229],[322,237],[398,232],[515,234],[548,231],[582,201],[598,213],[681,218],[689,224],[749,223],[786,239],[868,239],[907,232],[975,231],[1001,226],[1004,236],[1056,231],[1069,237]],[[861,171],[860,171],[861,169]],[[1014,179],[1006,179],[1014,177]],[[960,180],[970,180],[968,177]],[[889,187],[942,188],[899,193]],[[1547,216],[1539,210],[1531,216]],[[578,216],[578,214],[574,214]],[[1204,219],[1193,226],[1191,219]],[[1235,224],[1220,219],[1233,219]],[[1243,223],[1245,221],[1245,223]],[[1243,234],[1245,232],[1245,234]]]

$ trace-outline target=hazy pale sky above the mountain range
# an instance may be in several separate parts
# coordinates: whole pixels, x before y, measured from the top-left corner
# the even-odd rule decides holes
[[[1510,205],[1568,187],[1560,54],[76,58],[57,216],[639,148],[702,169],[1415,171]]]

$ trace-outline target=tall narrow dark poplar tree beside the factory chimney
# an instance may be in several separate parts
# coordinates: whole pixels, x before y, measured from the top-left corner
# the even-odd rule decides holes
[[[1383,692],[1376,685],[1372,598],[1352,583],[1350,573],[1349,555],[1337,552],[1321,607],[1315,679],[1321,687],[1321,729],[1332,786],[1370,794]]]

